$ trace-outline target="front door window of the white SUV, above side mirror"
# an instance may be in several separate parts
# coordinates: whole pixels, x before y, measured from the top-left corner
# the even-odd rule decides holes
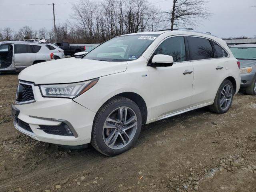
[[[158,54],[170,55],[174,62],[186,61],[184,37],[172,37],[164,40],[154,52],[154,55]]]

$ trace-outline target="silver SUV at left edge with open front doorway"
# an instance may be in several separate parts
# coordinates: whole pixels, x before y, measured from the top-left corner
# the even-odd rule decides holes
[[[0,72],[21,71],[33,64],[53,59],[53,53],[45,44],[22,41],[0,42]]]

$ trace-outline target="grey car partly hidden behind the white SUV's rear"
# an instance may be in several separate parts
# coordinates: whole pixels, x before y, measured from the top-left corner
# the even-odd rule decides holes
[[[256,44],[238,44],[230,50],[240,61],[241,89],[256,95]]]

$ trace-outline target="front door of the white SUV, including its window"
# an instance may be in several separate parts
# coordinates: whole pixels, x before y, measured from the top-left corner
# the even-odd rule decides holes
[[[183,36],[163,40],[156,48],[156,54],[172,56],[174,64],[168,67],[148,66],[152,119],[188,108],[193,86],[193,66],[186,61]]]

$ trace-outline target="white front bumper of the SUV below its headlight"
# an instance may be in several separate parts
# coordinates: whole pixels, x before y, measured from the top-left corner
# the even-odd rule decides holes
[[[44,98],[38,86],[34,86],[34,96],[36,102],[14,105],[20,110],[18,119],[28,124],[32,132],[14,122],[17,130],[38,141],[53,144],[78,146],[90,143],[94,112],[72,99]],[[40,125],[58,126],[62,122],[70,127],[74,136],[48,134],[40,128]]]

